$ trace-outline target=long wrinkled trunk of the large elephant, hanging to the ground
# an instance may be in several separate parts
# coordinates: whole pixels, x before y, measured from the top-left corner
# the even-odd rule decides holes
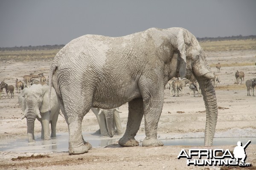
[[[211,79],[198,79],[198,83],[204,97],[204,105],[206,108],[204,144],[206,146],[211,146],[218,118],[218,106],[215,89],[211,83]]]

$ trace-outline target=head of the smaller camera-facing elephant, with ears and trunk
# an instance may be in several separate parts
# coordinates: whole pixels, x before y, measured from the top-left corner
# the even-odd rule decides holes
[[[30,88],[24,88],[18,97],[23,111],[21,119],[26,117],[29,142],[35,142],[35,119],[40,121],[41,113],[49,111],[48,91],[48,86],[32,85]]]

